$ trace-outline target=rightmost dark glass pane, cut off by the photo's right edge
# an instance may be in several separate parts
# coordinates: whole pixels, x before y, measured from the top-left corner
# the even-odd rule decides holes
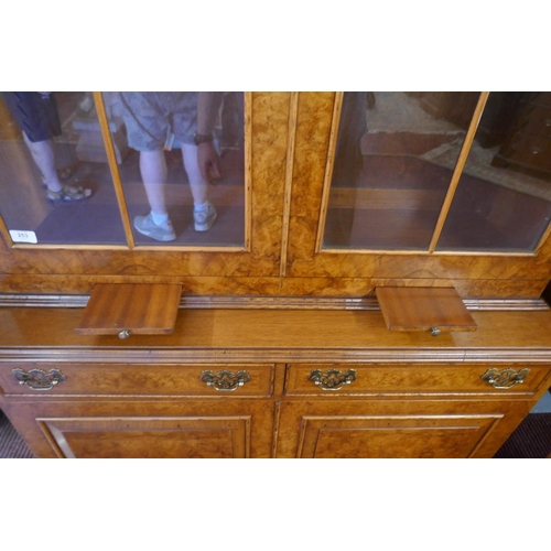
[[[489,95],[437,249],[531,251],[551,217],[551,93]]]

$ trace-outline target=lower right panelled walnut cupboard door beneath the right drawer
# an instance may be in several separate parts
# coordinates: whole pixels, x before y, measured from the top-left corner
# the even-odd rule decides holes
[[[528,411],[512,402],[287,402],[277,456],[491,457]]]

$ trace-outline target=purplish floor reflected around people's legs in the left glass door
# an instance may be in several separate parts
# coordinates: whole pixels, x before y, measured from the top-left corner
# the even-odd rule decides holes
[[[65,159],[76,159],[69,143],[56,143]],[[62,155],[58,155],[62,156]],[[162,245],[242,246],[245,241],[245,187],[239,180],[237,152],[228,151],[222,159],[225,179],[210,186],[209,201],[218,217],[207,233],[193,229],[193,199],[181,152],[166,152],[169,214],[176,240]],[[68,164],[65,161],[65,164]],[[73,161],[76,172],[66,181],[93,191],[85,201],[55,203],[46,198],[40,172],[22,141],[0,142],[0,204],[10,229],[33,230],[39,244],[48,245],[126,245],[117,197],[107,163]],[[139,171],[139,155],[130,152],[119,165],[130,219],[149,212],[149,204]],[[242,174],[242,169],[241,169]],[[159,242],[134,231],[137,245]]]

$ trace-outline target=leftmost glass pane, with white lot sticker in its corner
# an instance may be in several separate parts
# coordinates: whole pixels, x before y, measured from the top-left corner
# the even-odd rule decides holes
[[[91,93],[0,96],[0,213],[12,240],[126,245]]]

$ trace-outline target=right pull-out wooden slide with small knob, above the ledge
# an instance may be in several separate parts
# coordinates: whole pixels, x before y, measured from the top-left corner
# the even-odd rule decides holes
[[[476,322],[453,288],[380,287],[375,290],[390,331],[475,331]]]

